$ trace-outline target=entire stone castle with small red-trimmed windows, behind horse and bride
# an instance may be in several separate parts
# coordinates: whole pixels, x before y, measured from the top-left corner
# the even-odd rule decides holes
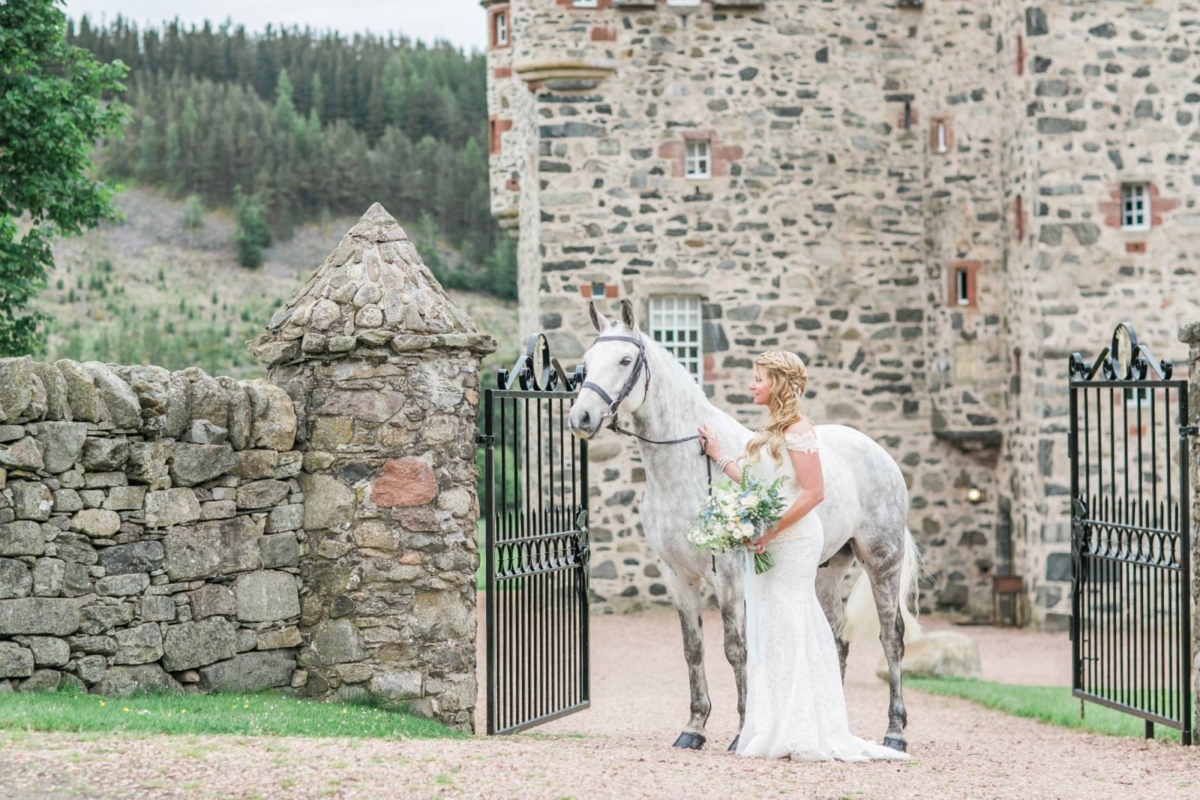
[[[911,487],[923,604],[1069,614],[1067,356],[1200,311],[1200,10],[1178,0],[484,0],[521,327],[577,361],[631,300],[714,402],[752,356]],[[1181,371],[1186,369],[1182,366]],[[593,588],[665,601],[636,449],[592,447]]]

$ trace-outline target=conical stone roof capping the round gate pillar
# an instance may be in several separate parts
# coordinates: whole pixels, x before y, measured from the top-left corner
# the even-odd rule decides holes
[[[378,203],[251,343],[266,363],[359,347],[409,351],[451,345],[492,350],[446,295],[404,229]]]

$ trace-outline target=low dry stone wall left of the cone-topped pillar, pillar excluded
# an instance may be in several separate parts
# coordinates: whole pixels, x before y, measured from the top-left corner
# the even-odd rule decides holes
[[[0,361],[0,691],[295,680],[290,398],[199,369]]]

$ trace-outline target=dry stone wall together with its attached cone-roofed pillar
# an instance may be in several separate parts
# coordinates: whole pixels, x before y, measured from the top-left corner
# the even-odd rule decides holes
[[[470,729],[491,337],[374,205],[270,380],[0,360],[0,691],[370,694]]]

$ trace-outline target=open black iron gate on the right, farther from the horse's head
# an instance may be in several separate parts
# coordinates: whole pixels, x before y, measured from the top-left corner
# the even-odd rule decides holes
[[[1192,744],[1187,380],[1128,323],[1070,356],[1072,685]]]

